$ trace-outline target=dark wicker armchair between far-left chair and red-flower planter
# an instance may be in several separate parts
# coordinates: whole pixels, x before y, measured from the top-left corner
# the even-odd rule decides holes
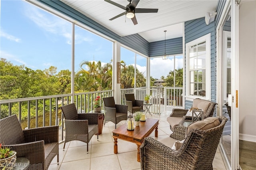
[[[66,142],[80,140],[87,144],[92,136],[97,134],[98,139],[98,113],[77,113],[76,105],[71,103],[60,107],[65,118],[66,136],[63,146]]]

